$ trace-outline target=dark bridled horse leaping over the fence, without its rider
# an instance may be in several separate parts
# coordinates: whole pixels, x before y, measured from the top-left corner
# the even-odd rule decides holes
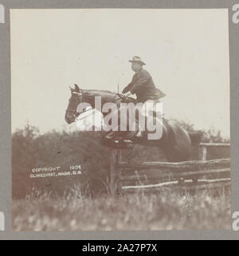
[[[80,103],[88,103],[92,108],[95,107],[95,96],[101,96],[102,105],[109,102],[119,104],[122,101],[122,97],[119,93],[102,90],[83,90],[80,89],[78,85],[75,85],[75,89],[71,89],[71,94],[69,105],[65,113],[65,121],[68,124],[74,122],[76,117],[80,115],[80,113],[76,111]],[[128,97],[125,102],[135,103],[136,100]],[[190,160],[191,144],[199,142],[200,135],[198,132],[186,132],[177,122],[163,118],[163,136],[159,140],[147,140],[146,136],[142,138],[132,136],[131,140],[136,144],[161,148],[167,156],[168,161],[179,162]],[[102,142],[104,143],[104,138],[102,138]]]

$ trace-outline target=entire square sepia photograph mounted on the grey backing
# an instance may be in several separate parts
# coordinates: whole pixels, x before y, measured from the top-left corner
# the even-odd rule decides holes
[[[228,9],[11,9],[12,229],[230,230]]]

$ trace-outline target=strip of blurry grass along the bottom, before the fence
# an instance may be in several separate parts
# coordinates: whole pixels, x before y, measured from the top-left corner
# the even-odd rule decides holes
[[[22,230],[221,230],[231,227],[229,192],[178,195],[174,191],[88,198],[74,191],[61,198],[34,191],[12,205],[12,225]]]

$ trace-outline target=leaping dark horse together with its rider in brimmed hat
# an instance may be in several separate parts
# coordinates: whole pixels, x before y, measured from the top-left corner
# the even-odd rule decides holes
[[[159,102],[159,98],[165,95],[160,92],[159,89],[155,88],[151,75],[147,73],[145,69],[143,69],[143,65],[145,65],[145,63],[139,57],[134,57],[131,63],[132,69],[135,71],[135,75],[131,83],[127,85],[125,89],[123,89],[123,96],[121,93],[112,93],[106,90],[80,89],[78,85],[75,85],[74,89],[71,88],[71,96],[69,98],[69,104],[65,112],[65,121],[68,124],[74,122],[77,116],[80,116],[80,114],[84,112],[84,110],[82,111],[81,109],[81,104],[83,103],[88,104],[92,108],[98,109],[99,106],[96,106],[96,97],[100,97],[101,99],[100,112],[104,118],[108,116],[108,112],[102,111],[102,106],[104,104],[113,103],[116,105],[116,111],[119,110],[120,113],[120,108],[123,105],[123,99],[124,104],[137,104],[135,99],[129,97],[129,95],[132,93],[135,93],[137,100],[143,102],[143,104],[146,104],[148,101],[153,101],[156,103]],[[142,106],[141,103],[140,105]],[[141,112],[142,108],[139,110]],[[153,112],[155,112],[155,109]],[[114,115],[114,112],[112,115],[118,116],[117,118],[122,116]],[[154,115],[151,118],[154,120],[154,123],[157,123],[157,120],[160,119],[158,118],[158,110],[156,110],[156,116],[157,117]],[[101,138],[101,143],[112,148],[128,148],[128,143],[124,142],[124,140],[131,140],[131,143],[134,144],[142,144],[150,147],[161,148],[167,156],[167,160],[170,162],[190,160],[191,145],[199,143],[201,140],[201,132],[186,131],[186,129],[182,128],[175,120],[167,120],[166,118],[162,118],[160,121],[161,124],[163,124],[161,125],[162,136],[158,139],[148,140],[147,136],[151,131],[145,130],[143,132],[143,136],[141,136],[141,132],[139,132],[138,128],[134,129],[133,131],[130,129],[129,132],[125,131],[124,129],[123,131],[120,131],[120,129],[117,129],[119,122],[116,122],[116,126],[109,123],[110,126],[112,126],[112,129],[108,130],[106,136]],[[139,124],[139,128],[140,125],[141,123]],[[135,136],[137,133],[139,133],[139,137]],[[118,142],[116,142],[116,140],[118,140]],[[121,144],[122,141],[123,144]]]

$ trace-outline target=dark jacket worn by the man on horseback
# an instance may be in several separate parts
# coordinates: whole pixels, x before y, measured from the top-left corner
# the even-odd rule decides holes
[[[128,91],[136,94],[139,102],[159,100],[159,98],[165,96],[163,92],[156,88],[151,74],[145,69],[140,69],[139,72],[135,73],[131,83],[123,89],[122,93],[127,93]]]

